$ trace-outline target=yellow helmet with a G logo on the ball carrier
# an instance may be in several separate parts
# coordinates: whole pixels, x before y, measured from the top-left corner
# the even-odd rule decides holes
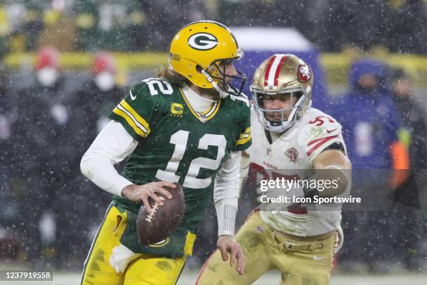
[[[215,88],[221,97],[239,95],[246,75],[237,71],[237,76],[225,75],[225,66],[240,59],[243,51],[237,45],[230,29],[213,21],[198,21],[182,27],[170,43],[170,66],[194,85]],[[225,78],[239,80],[239,89],[225,90]],[[223,84],[223,89],[218,87]]]

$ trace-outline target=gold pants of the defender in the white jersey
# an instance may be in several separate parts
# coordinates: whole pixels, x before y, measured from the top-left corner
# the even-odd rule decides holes
[[[264,224],[260,212],[250,214],[236,235],[246,257],[244,275],[223,261],[218,249],[204,264],[197,285],[252,284],[269,270],[282,273],[280,284],[329,284],[336,235],[316,242],[299,242]]]

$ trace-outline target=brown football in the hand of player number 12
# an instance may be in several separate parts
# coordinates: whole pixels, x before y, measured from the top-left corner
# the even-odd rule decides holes
[[[172,199],[167,199],[160,193],[156,193],[163,199],[163,206],[149,198],[151,212],[147,212],[144,204],[140,207],[137,217],[137,235],[141,244],[156,244],[165,240],[181,224],[186,209],[182,186],[178,183],[174,189],[163,187],[170,191]]]

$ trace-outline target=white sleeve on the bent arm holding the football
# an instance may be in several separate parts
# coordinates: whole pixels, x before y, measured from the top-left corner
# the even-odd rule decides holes
[[[93,140],[82,157],[80,169],[100,189],[121,196],[123,187],[133,183],[121,176],[114,164],[123,161],[137,144],[119,122],[112,121]]]

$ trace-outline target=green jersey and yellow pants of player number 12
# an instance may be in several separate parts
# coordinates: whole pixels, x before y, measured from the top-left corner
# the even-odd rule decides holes
[[[183,186],[186,210],[179,229],[167,240],[144,246],[137,241],[135,222],[141,203],[114,196],[85,263],[83,284],[91,284],[92,276],[96,280],[92,284],[103,284],[100,282],[103,278],[96,273],[106,275],[105,270],[116,276],[114,282],[117,280],[117,284],[123,284],[123,278],[124,284],[133,284],[128,281],[132,278],[127,274],[132,271],[133,264],[144,261],[141,265],[144,272],[159,272],[153,275],[156,284],[174,284],[186,256],[192,252],[195,233],[212,195],[217,171],[231,152],[250,146],[249,103],[246,97],[230,95],[213,103],[209,110],[198,113],[191,108],[178,85],[151,78],[135,85],[114,108],[110,118],[120,122],[138,141],[128,156],[123,177],[134,184],[178,182]],[[126,277],[108,268],[111,251],[119,244],[143,254],[138,258],[142,261],[130,263],[128,273],[124,274]],[[160,261],[167,264],[167,270],[159,266]],[[154,268],[148,269],[149,263]],[[159,268],[163,269],[159,271]],[[140,274],[133,271],[132,274]],[[110,281],[105,279],[105,284],[114,284],[111,277],[108,278]]]

